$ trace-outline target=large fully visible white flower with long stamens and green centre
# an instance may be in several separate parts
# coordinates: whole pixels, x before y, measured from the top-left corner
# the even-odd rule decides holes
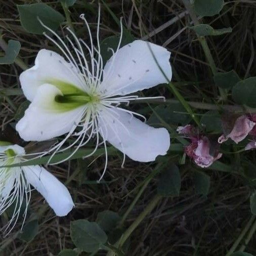
[[[70,136],[76,136],[68,148],[75,145],[77,150],[94,137],[95,150],[99,144],[106,149],[108,141],[133,160],[148,162],[158,155],[165,155],[170,145],[167,130],[155,129],[135,117],[140,114],[119,106],[139,99],[129,94],[166,83],[172,78],[170,53],[142,40],[120,48],[120,36],[116,52],[110,49],[112,57],[103,68],[100,20],[95,47],[89,25],[83,15],[80,17],[88,28],[90,46],[67,28],[72,35],[72,40],[66,36],[68,48],[54,31],[42,24],[57,37],[58,42],[45,34],[65,59],[53,51],[40,50],[35,65],[20,75],[24,95],[31,101],[16,125],[20,137],[25,141],[43,141],[67,134],[51,149],[54,153],[64,150],[61,149],[64,142]]]

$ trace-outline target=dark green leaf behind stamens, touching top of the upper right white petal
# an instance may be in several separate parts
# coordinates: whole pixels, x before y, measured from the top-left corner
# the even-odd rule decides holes
[[[123,47],[127,44],[130,44],[130,42],[134,41],[134,37],[130,34],[130,36],[123,35],[121,45],[120,47]],[[101,49],[101,56],[103,59],[103,63],[105,64],[112,56],[112,51],[110,49],[113,49],[114,52],[117,49],[118,43],[120,40],[119,35],[111,35],[107,38],[105,38],[100,45]]]

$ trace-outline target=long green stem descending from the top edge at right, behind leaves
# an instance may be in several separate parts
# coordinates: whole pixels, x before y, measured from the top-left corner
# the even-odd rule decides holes
[[[193,9],[193,6],[191,5],[190,1],[189,0],[182,0],[183,4],[185,5],[194,25],[199,25],[199,21],[197,19],[197,16],[194,12],[194,9]],[[197,36],[200,44],[201,44],[201,47],[204,51],[204,55],[205,55],[205,58],[207,60],[207,62],[209,63],[209,66],[210,66],[210,69],[211,69],[211,72],[212,74],[216,74],[218,71],[217,71],[217,67],[216,67],[216,64],[215,64],[215,61],[214,61],[214,58],[212,57],[211,53],[210,53],[210,49],[209,49],[209,46],[207,44],[207,41],[205,39],[204,36]],[[220,92],[220,95],[222,97],[222,99],[224,101],[227,100],[227,93],[224,89],[222,88],[219,88],[219,92]]]

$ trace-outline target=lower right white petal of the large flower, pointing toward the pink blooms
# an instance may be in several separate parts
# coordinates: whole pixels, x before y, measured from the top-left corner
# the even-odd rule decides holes
[[[165,155],[170,146],[166,129],[155,129],[122,110],[104,109],[99,127],[104,139],[136,161],[154,161],[158,155]]]

